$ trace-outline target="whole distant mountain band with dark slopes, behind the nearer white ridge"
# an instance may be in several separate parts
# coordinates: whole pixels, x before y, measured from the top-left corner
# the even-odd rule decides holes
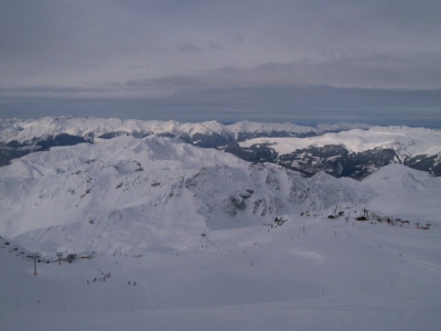
[[[423,128],[216,121],[183,124],[100,118],[44,117],[0,120],[0,166],[55,146],[95,143],[101,139],[152,135],[216,148],[256,163],[271,162],[311,177],[363,179],[380,167],[404,163],[441,175],[441,132]]]

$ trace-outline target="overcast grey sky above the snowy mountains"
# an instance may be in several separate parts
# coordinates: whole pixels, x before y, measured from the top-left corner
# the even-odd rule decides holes
[[[439,0],[2,0],[0,118],[441,127]]]

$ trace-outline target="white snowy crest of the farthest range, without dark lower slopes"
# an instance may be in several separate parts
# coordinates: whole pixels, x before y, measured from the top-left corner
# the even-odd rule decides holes
[[[83,138],[100,137],[106,134],[131,135],[144,137],[149,135],[166,135],[173,137],[195,135],[219,135],[229,139],[237,139],[238,134],[271,135],[286,132],[290,136],[319,135],[326,131],[365,129],[366,125],[320,125],[318,129],[288,124],[263,124],[239,121],[233,125],[222,125],[217,121],[179,122],[175,120],[135,120],[118,118],[77,118],[77,117],[43,117],[39,119],[0,119],[0,142],[26,142],[32,139],[44,139],[49,136],[67,134]]]

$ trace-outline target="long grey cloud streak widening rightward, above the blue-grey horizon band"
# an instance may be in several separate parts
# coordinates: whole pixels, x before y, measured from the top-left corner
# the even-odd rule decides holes
[[[266,86],[334,86],[366,89],[440,89],[441,54],[422,53],[412,56],[372,54],[365,56],[329,57],[325,61],[266,63],[250,68],[220,67],[193,75],[129,79],[126,83],[100,85],[34,86],[1,88],[0,95],[89,93],[101,97],[118,93],[120,97],[164,97],[195,90]]]

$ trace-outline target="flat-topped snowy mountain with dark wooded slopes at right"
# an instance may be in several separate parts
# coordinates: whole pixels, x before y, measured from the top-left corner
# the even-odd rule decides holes
[[[306,175],[325,171],[363,179],[390,163],[441,175],[441,131],[424,128],[373,127],[305,138],[256,138],[232,143],[225,151]]]

